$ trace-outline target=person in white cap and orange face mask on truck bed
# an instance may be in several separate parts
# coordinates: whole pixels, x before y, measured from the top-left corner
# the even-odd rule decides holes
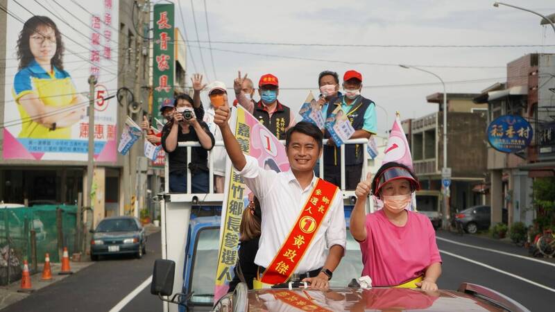
[[[210,98],[210,107],[204,115],[204,122],[207,123],[208,129],[214,135],[216,141],[221,141],[222,136],[219,127],[214,123],[214,110],[221,105],[228,105],[228,92],[225,90],[225,84],[221,81],[214,81],[208,85],[208,98]],[[212,149],[212,168],[214,171],[214,187],[216,193],[223,193],[225,180],[225,148],[215,146]]]

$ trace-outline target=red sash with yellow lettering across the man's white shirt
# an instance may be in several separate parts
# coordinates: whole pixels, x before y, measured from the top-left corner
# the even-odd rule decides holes
[[[318,179],[316,187],[302,208],[289,236],[264,271],[260,281],[272,285],[281,284],[293,275],[310,242],[318,232],[337,189],[338,187],[334,184]]]

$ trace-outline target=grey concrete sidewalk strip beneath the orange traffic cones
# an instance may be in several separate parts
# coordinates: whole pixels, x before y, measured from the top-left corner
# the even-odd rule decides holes
[[[87,268],[87,266],[90,266],[92,263],[94,262],[69,261],[69,266],[71,267],[71,271],[76,273],[76,272],[79,272],[80,270],[83,270],[84,268]],[[39,263],[38,270],[40,270],[40,272],[37,272],[36,274],[31,275],[31,286],[33,286],[33,291],[38,291],[40,288],[49,286],[53,283],[56,283],[56,281],[60,281],[62,279],[65,279],[66,277],[71,276],[71,275],[58,275],[58,272],[60,272],[61,266],[62,266],[61,263],[50,263],[50,268],[52,271],[52,279],[50,281],[41,281],[40,277],[42,276],[42,268],[44,268],[44,263]],[[13,282],[8,286],[0,287],[0,310],[6,308],[6,306],[9,306],[10,304],[13,304],[15,302],[18,302],[19,300],[24,299],[28,295],[31,295],[30,293],[17,292],[19,290],[19,286],[21,286],[21,282],[22,281],[19,280],[19,281]]]

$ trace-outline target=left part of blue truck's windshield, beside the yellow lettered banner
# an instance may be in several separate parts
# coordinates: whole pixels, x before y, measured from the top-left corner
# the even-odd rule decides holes
[[[214,280],[218,266],[219,227],[201,229],[198,232],[194,264],[192,269],[191,304],[212,304],[214,301]]]

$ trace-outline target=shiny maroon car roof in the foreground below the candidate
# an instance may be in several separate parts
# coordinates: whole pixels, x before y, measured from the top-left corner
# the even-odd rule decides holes
[[[293,302],[293,304],[291,304]],[[315,311],[422,310],[504,311],[499,306],[458,291],[424,292],[409,288],[330,288],[326,293],[312,289],[287,288],[248,291],[249,311],[282,311],[312,305]]]

